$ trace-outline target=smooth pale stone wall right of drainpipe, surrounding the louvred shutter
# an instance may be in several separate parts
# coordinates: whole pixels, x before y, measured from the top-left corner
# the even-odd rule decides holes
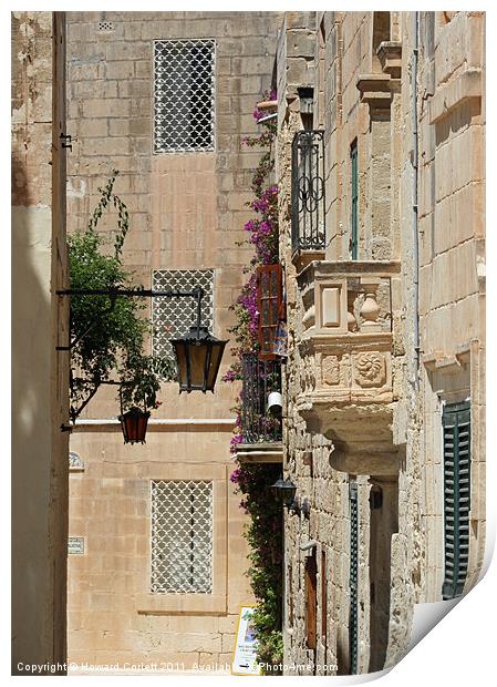
[[[444,402],[472,400],[466,589],[485,548],[485,17],[423,13],[420,86],[420,329],[425,424],[426,587],[443,566]]]

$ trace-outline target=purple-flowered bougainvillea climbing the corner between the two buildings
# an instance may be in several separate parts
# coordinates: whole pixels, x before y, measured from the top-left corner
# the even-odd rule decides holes
[[[275,100],[276,92],[266,93],[265,100]],[[257,122],[266,113],[258,107],[253,112]],[[262,150],[259,164],[255,170],[251,189],[253,201],[248,203],[253,217],[245,225],[248,234],[246,242],[253,246],[253,257],[245,268],[248,279],[240,295],[231,306],[236,325],[230,330],[235,338],[231,349],[234,363],[225,375],[225,381],[241,379],[241,359],[245,353],[259,349],[257,310],[257,266],[278,262],[278,186],[270,183],[273,170],[272,145],[277,133],[273,120],[262,122],[260,134],[246,137],[244,144]],[[238,398],[236,424],[231,438],[231,452],[242,442],[241,403],[242,392]],[[279,476],[280,469],[275,464],[238,463],[231,474],[231,482],[242,494],[240,507],[250,516],[245,536],[250,545],[250,567],[248,576],[257,599],[253,622],[258,639],[258,660],[260,664],[276,667],[282,663],[282,512],[271,494],[270,485]],[[263,671],[263,669],[262,669]],[[269,670],[277,675],[278,670]]]

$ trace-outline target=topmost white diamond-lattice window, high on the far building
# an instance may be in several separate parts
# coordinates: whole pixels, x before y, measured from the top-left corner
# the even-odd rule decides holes
[[[154,152],[214,151],[215,42],[155,41]]]

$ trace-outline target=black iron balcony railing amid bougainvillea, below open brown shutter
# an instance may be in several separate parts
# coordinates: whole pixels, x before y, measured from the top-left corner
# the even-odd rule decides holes
[[[281,441],[281,418],[268,412],[271,391],[281,391],[281,362],[246,353],[241,361],[241,432],[244,443]]]

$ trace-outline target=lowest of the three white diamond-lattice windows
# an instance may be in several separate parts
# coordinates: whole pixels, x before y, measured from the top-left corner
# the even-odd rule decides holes
[[[152,482],[152,593],[213,592],[213,482]]]

